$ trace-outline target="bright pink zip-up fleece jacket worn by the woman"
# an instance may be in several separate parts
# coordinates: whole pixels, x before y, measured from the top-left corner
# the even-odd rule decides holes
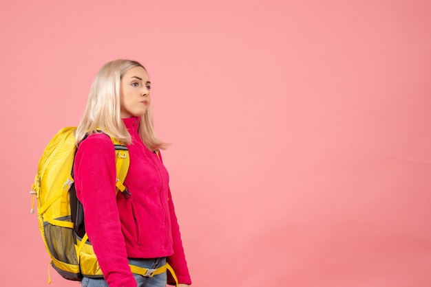
[[[76,195],[85,229],[109,287],[136,287],[127,257],[167,257],[178,283],[191,284],[180,229],[169,190],[169,175],[138,135],[139,118],[123,119],[132,143],[125,186],[116,196],[115,150],[104,134],[90,135],[74,163]],[[168,277],[168,282],[169,280]]]

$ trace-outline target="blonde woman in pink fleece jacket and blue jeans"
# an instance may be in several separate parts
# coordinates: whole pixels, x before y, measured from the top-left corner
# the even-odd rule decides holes
[[[178,286],[191,279],[182,249],[169,176],[156,151],[165,149],[153,128],[147,71],[132,60],[114,60],[98,72],[76,130],[76,195],[85,229],[104,279],[84,277],[82,286],[159,287],[174,284],[166,272],[144,277],[129,264],[157,269],[168,262]],[[98,129],[98,130],[96,130]],[[129,150],[124,185],[116,194],[114,137]]]

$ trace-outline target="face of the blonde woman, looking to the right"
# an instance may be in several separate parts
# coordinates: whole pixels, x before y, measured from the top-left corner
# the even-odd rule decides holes
[[[133,67],[125,72],[120,82],[120,115],[140,117],[147,112],[151,102],[149,95],[150,82],[143,67]]]

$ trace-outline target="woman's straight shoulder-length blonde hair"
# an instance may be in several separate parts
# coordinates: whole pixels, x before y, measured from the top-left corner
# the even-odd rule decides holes
[[[76,146],[86,135],[96,133],[97,130],[124,144],[132,143],[132,138],[120,116],[120,80],[125,72],[133,67],[145,69],[139,62],[120,59],[107,62],[98,71],[88,95],[83,117],[76,129]],[[138,133],[149,150],[164,150],[167,146],[154,133],[151,104],[147,112],[140,117]]]

